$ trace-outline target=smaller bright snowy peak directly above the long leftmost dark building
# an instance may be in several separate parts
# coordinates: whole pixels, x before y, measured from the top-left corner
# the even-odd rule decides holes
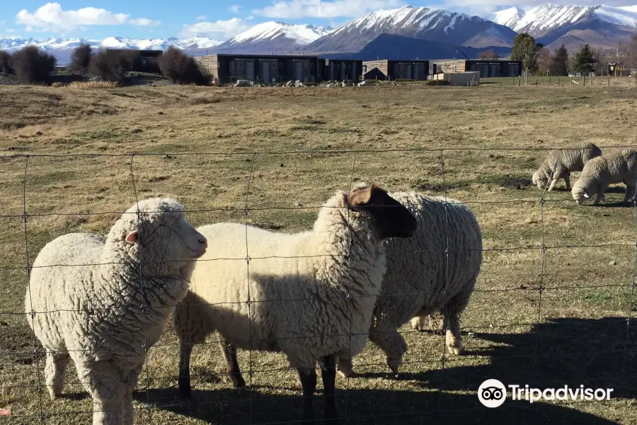
[[[331,27],[265,22],[219,45],[217,52],[282,53],[294,52],[333,31]]]

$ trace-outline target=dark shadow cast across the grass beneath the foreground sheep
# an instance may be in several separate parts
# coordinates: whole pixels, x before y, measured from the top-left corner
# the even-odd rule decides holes
[[[612,397],[633,399],[637,395],[634,385],[637,378],[637,324],[631,323],[627,327],[627,323],[625,317],[554,319],[524,334],[474,334],[474,338],[494,343],[487,349],[471,353],[490,357],[490,364],[484,365],[481,361],[479,365],[453,367],[454,362],[451,361],[451,366],[444,370],[406,373],[399,379],[412,380],[423,391],[400,390],[399,382],[391,378],[380,382],[381,389],[360,388],[365,381],[357,382],[356,378],[350,382],[339,379],[337,397],[341,423],[615,424],[595,414],[573,409],[580,403],[592,406],[597,403],[601,412],[604,405],[599,402],[531,404],[507,399],[503,406],[487,409],[478,402],[476,390],[484,380],[493,378],[505,385],[517,384],[522,387],[528,384],[529,387],[537,388],[559,388],[564,385],[613,388]],[[389,374],[363,376],[388,378]],[[139,392],[135,397],[142,402],[149,401],[160,409],[210,424],[287,424],[299,419],[300,397],[263,395],[263,392],[272,390],[281,393],[296,389],[300,393],[295,380],[291,380],[287,386],[287,389],[253,387],[253,390],[193,390],[190,402],[181,400],[174,388],[151,390],[148,394]],[[322,402],[322,397],[316,397],[317,419],[322,417]]]

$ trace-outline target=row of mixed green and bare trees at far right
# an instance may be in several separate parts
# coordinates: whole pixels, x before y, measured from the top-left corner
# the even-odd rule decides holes
[[[575,74],[604,74],[609,63],[624,64],[637,67],[637,35],[633,35],[628,44],[619,43],[616,52],[602,50],[593,51],[590,45],[584,45],[573,57],[570,57],[565,45],[551,52],[548,47],[536,43],[527,34],[517,35],[513,43],[511,60],[522,61],[522,69],[529,74],[568,76]]]

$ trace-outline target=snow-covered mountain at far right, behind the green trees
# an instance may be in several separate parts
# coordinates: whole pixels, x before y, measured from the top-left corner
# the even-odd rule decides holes
[[[518,33],[529,33],[544,45],[590,42],[613,47],[637,33],[637,6],[562,6],[543,4],[528,11],[508,8],[493,21]],[[578,47],[577,47],[578,48]]]

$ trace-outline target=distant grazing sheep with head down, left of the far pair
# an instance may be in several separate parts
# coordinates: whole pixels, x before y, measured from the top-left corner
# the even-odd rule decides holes
[[[587,161],[601,155],[602,149],[593,143],[586,143],[582,147],[552,150],[533,174],[532,182],[540,189],[546,188],[550,182],[549,192],[551,192],[557,181],[564,179],[568,191],[570,190],[571,171],[582,171]]]

